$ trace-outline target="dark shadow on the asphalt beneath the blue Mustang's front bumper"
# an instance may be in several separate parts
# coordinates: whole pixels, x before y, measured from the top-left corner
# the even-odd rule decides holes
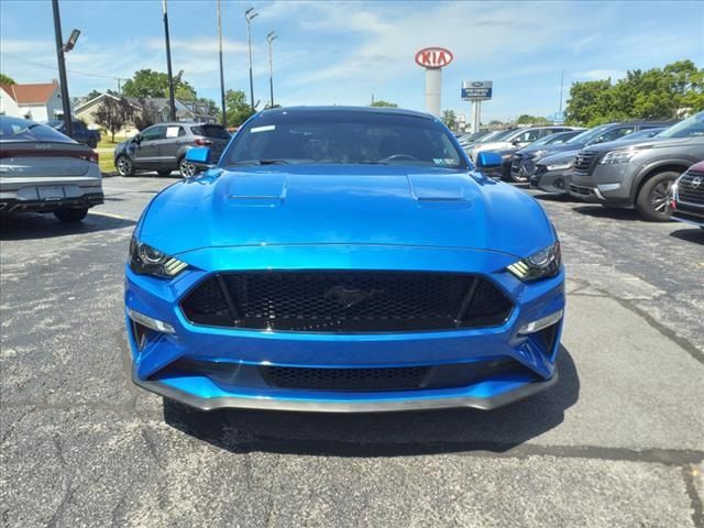
[[[562,346],[560,380],[544,393],[493,411],[448,409],[389,414],[304,414],[227,409],[210,413],[164,400],[169,426],[231,452],[329,457],[403,457],[504,452],[559,426],[580,395],[574,361]]]

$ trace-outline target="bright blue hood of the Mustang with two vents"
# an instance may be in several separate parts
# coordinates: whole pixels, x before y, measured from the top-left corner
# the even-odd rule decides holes
[[[201,248],[380,244],[527,256],[553,242],[525,193],[476,173],[427,167],[215,168],[157,195],[138,237],[170,255]]]

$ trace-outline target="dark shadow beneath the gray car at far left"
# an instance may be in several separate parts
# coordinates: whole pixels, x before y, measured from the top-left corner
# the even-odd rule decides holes
[[[51,239],[70,234],[122,229],[136,222],[88,212],[81,222],[64,223],[54,215],[23,213],[0,217],[0,240]]]

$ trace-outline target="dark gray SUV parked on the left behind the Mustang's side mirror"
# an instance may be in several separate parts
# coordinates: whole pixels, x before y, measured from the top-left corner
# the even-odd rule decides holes
[[[186,152],[208,146],[217,163],[229,142],[230,133],[219,124],[153,124],[116,147],[114,166],[121,176],[132,176],[138,170],[156,170],[160,176],[168,176],[178,170],[183,177],[189,177],[195,169],[186,161]]]

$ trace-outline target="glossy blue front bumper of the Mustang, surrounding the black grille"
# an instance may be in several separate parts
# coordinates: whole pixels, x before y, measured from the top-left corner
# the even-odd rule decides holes
[[[226,255],[227,253],[227,255]],[[381,256],[383,255],[383,256]],[[562,321],[550,331],[520,336],[529,321],[564,308],[563,279],[524,284],[504,272],[513,258],[472,250],[414,248],[242,248],[199,250],[178,256],[193,267],[172,280],[125,272],[127,308],[170,324],[173,334],[152,333],[138,344],[128,317],[133,381],[136,385],[186,405],[210,410],[222,407],[371,413],[446,407],[492,409],[540,392],[557,381],[556,360]],[[228,264],[223,264],[226,261]],[[219,262],[220,264],[216,264]],[[422,271],[479,273],[492,279],[513,300],[508,320],[498,327],[396,333],[271,332],[197,326],[178,306],[195,285],[215,270],[277,268],[360,270],[372,265]],[[314,266],[318,267],[318,266]],[[243,376],[218,377],[197,370],[179,370],[179,362],[228,365],[230,371],[286,369],[454,367],[480,362],[510,362],[507,371],[487,372],[466,385],[398,391],[337,391],[282,388]],[[515,366],[515,367],[514,367]]]

